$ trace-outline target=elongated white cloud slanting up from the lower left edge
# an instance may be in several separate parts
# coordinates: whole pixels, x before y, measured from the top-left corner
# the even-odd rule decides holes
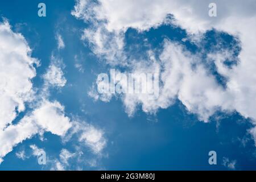
[[[43,101],[31,114],[26,115],[16,125],[10,125],[0,132],[0,162],[13,150],[16,144],[42,131],[64,136],[72,126],[64,115],[64,107],[59,102]]]

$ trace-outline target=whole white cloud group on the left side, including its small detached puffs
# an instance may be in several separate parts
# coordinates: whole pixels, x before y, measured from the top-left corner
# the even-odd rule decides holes
[[[7,21],[0,23],[0,163],[23,140],[36,134],[43,135],[46,131],[64,138],[74,127],[75,122],[67,117],[64,106],[48,99],[50,86],[64,86],[67,81],[59,62],[55,57],[51,58],[52,63],[43,75],[43,88],[36,94],[31,79],[36,75],[34,65],[39,65],[39,61],[31,57],[31,49],[21,34],[13,32]],[[13,123],[17,115],[25,110],[26,103],[33,108]],[[82,129],[85,134],[79,140],[93,151],[100,152],[105,146],[105,138],[100,130],[92,129]],[[73,135],[76,133],[73,132]],[[31,148],[36,155],[39,149],[36,146]],[[24,151],[16,153],[16,156],[26,158]],[[60,158],[63,162],[68,160],[67,151],[61,152]]]

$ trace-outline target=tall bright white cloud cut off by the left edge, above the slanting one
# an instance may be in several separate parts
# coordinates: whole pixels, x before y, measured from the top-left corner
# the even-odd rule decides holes
[[[11,30],[9,23],[0,23],[0,130],[25,109],[33,96],[33,67],[39,61],[31,57],[31,49],[21,34]]]

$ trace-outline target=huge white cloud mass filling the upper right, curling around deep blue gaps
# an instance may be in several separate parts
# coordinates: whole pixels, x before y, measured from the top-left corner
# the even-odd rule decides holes
[[[203,33],[215,28],[235,36],[241,42],[240,60],[232,69],[224,65],[225,52],[208,55],[214,60],[217,72],[225,77],[226,88],[222,88],[207,72],[203,65],[197,64],[196,55],[189,55],[184,48],[166,43],[161,56],[164,67],[160,96],[156,102],[150,102],[140,96],[124,94],[123,102],[127,113],[132,114],[137,105],[146,112],[166,108],[173,98],[179,100],[188,111],[196,113],[205,122],[217,109],[236,110],[246,118],[256,119],[256,3],[255,1],[214,1],[217,5],[217,17],[208,15],[212,1],[185,0],[127,0],[92,2],[78,0],[72,15],[91,23],[84,30],[83,40],[88,40],[96,55],[104,57],[107,63],[126,65],[123,53],[123,38],[127,28],[147,31],[162,23],[172,23],[185,29],[193,40],[200,40]],[[167,15],[174,19],[166,19]],[[232,58],[232,57],[231,57]],[[137,64],[129,65],[136,71]],[[146,66],[145,66],[146,67]],[[150,68],[150,67],[149,67]],[[141,71],[141,69],[137,69]],[[91,92],[92,93],[92,92]],[[98,98],[93,94],[94,98]],[[251,129],[255,136],[256,128]],[[255,139],[256,141],[256,139]]]

